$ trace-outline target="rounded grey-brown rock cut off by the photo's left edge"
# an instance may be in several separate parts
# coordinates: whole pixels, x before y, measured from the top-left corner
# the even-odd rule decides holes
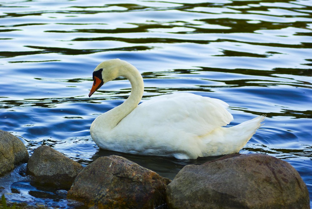
[[[14,169],[18,163],[27,162],[28,158],[27,149],[19,138],[0,130],[0,176]]]

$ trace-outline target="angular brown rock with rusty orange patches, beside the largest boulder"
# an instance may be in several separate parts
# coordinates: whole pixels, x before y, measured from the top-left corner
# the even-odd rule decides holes
[[[169,179],[124,157],[100,157],[75,179],[67,198],[96,208],[155,208],[165,204]]]

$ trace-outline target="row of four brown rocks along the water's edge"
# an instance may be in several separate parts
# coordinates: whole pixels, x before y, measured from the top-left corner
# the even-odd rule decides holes
[[[43,145],[29,158],[21,140],[2,130],[0,155],[0,178],[28,162],[31,181],[65,189],[68,199],[90,208],[310,209],[308,189],[295,168],[264,154],[187,165],[172,181],[115,155],[82,167]]]

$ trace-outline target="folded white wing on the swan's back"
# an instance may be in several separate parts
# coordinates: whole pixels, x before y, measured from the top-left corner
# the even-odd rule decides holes
[[[121,123],[143,129],[154,127],[200,136],[233,120],[227,107],[226,102],[210,97],[190,93],[167,94],[141,103]]]

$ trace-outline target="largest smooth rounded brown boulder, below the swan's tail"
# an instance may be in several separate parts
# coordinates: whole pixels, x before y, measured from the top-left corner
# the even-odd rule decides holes
[[[263,154],[232,154],[185,166],[167,187],[169,208],[306,208],[309,192],[289,163]]]

